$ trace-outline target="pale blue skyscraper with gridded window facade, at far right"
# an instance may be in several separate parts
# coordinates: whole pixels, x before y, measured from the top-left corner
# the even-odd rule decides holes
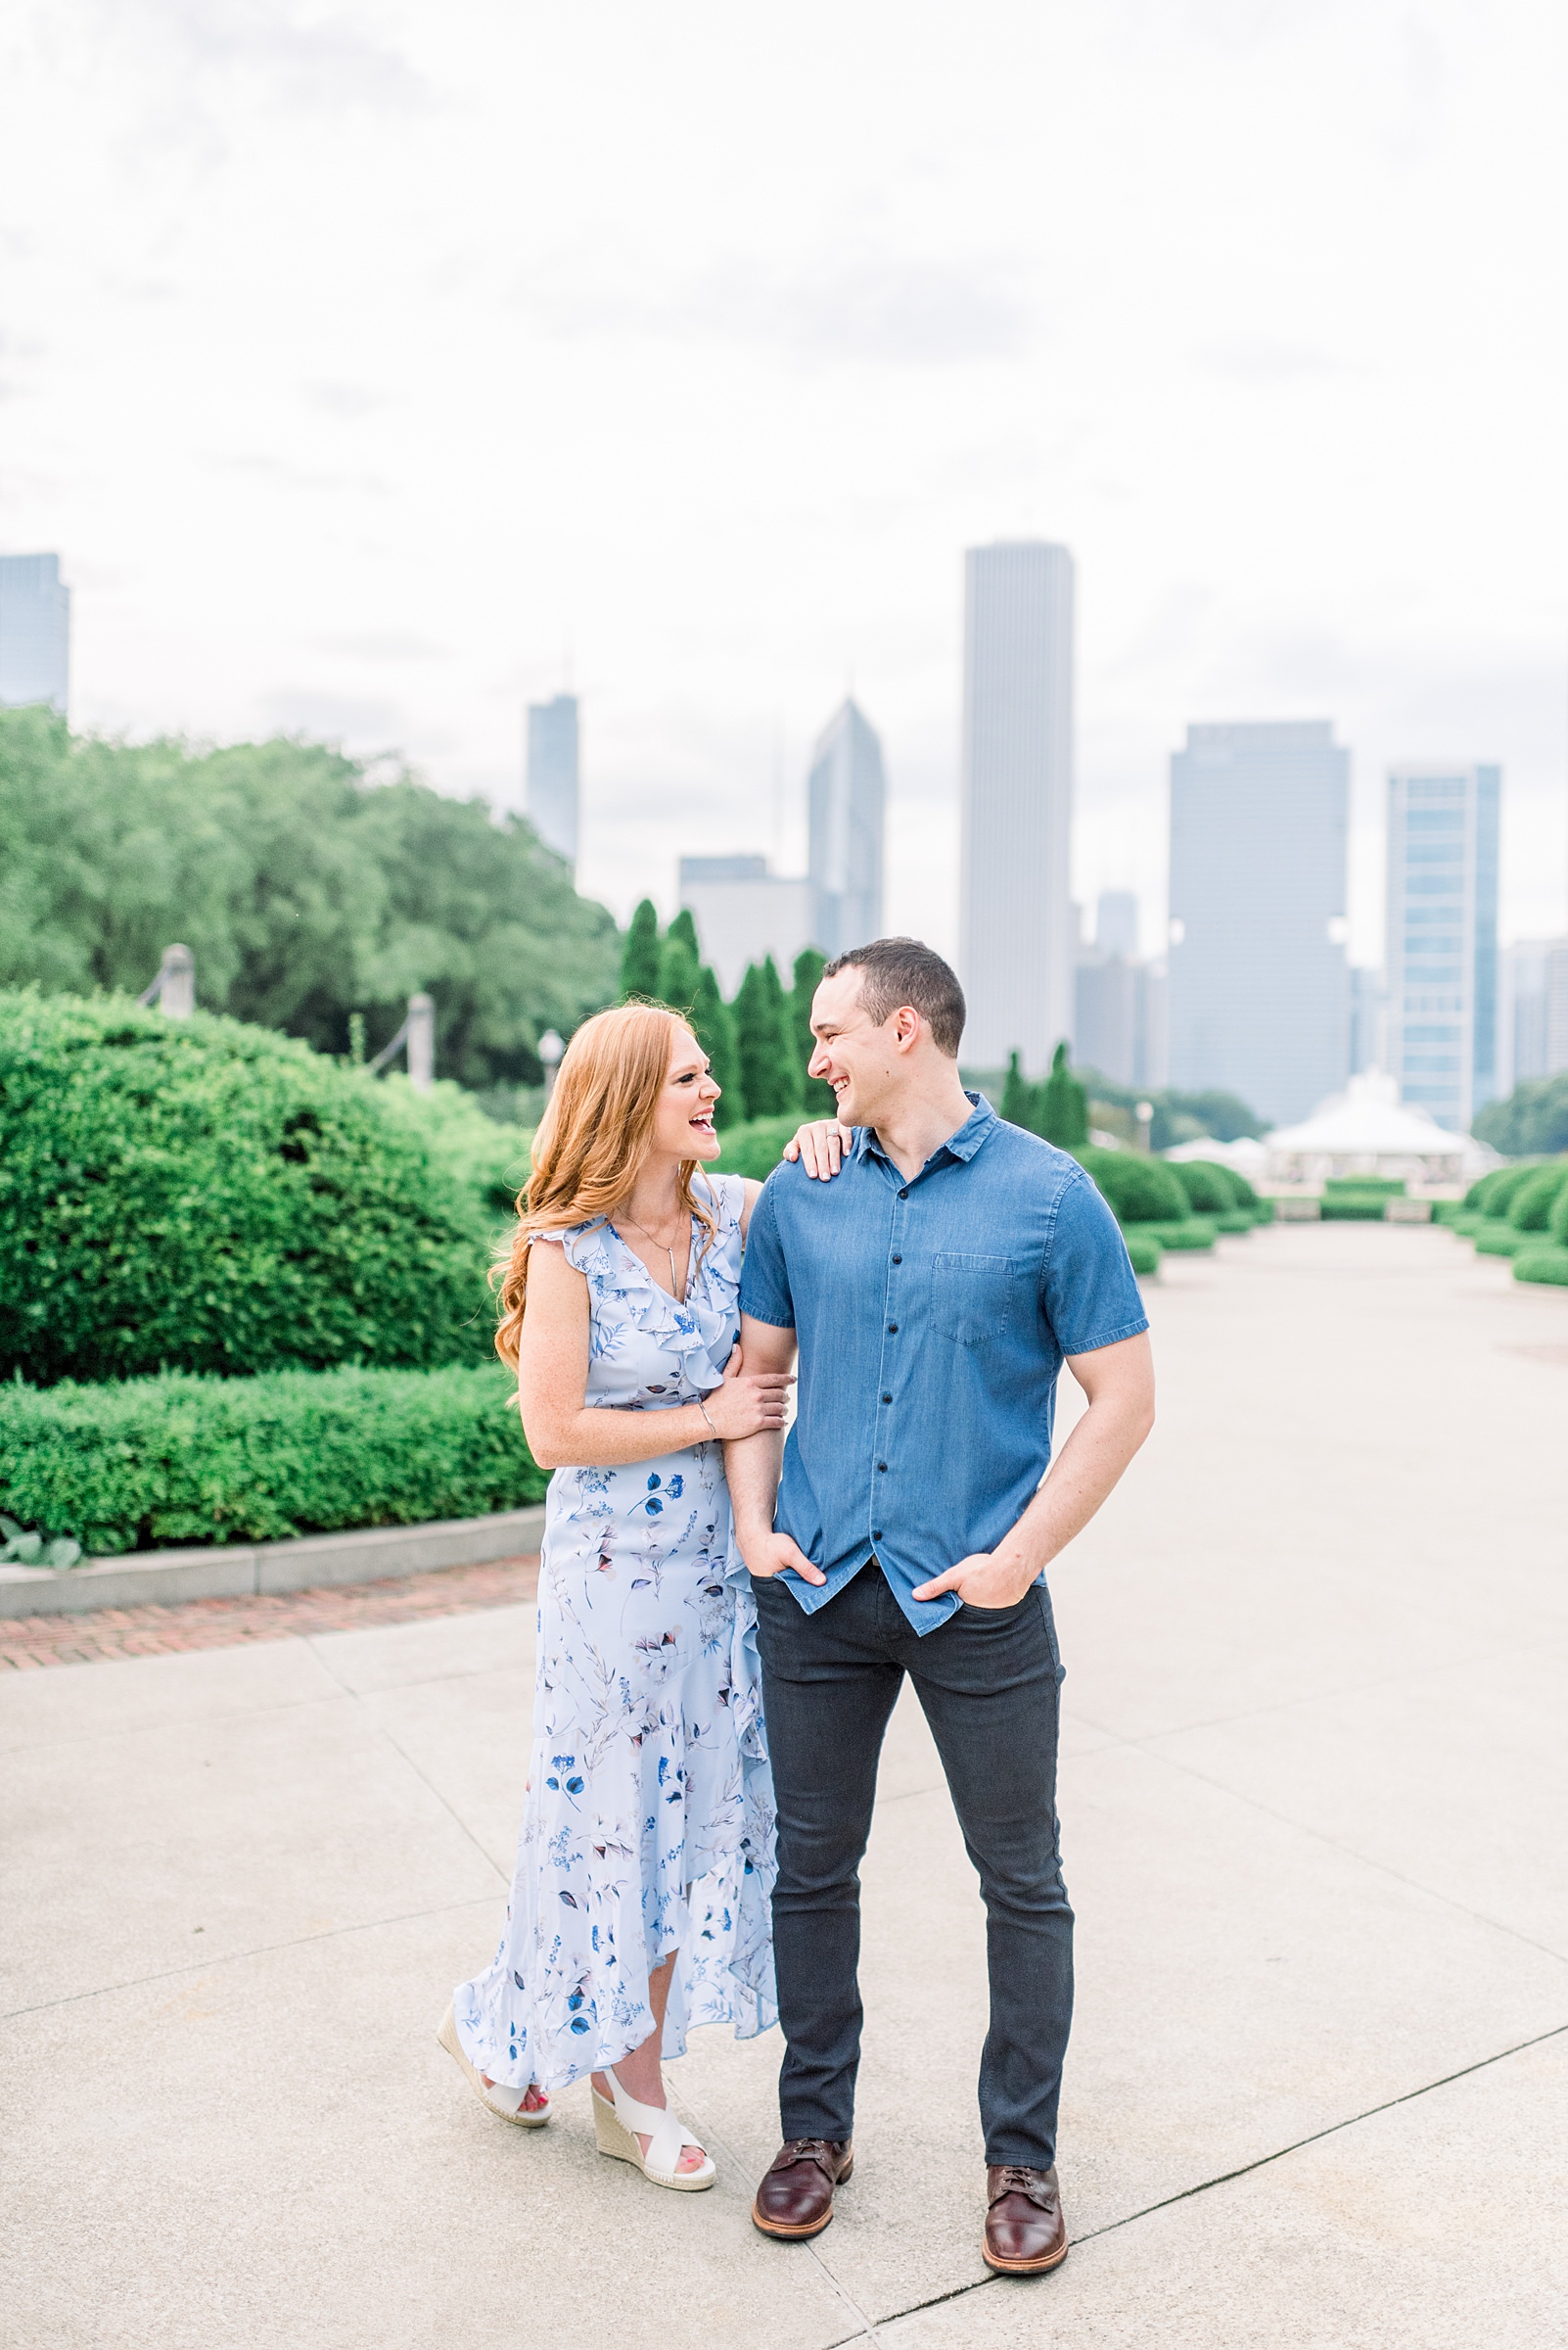
[[[1387,1046],[1406,1102],[1465,1133],[1498,1093],[1495,766],[1387,778]]]

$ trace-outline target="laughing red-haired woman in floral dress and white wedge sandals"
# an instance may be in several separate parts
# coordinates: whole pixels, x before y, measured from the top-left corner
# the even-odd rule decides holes
[[[775,2021],[772,1786],[751,1589],[728,1567],[721,1441],[777,1429],[786,1377],[735,1351],[761,1184],[718,1156],[678,1013],[587,1020],[561,1062],[500,1283],[540,1556],[533,1770],[507,1927],[441,2044],[491,2113],[549,2120],[594,2075],[599,2150],[697,2190],[714,2162],[664,2106],[692,2023]]]

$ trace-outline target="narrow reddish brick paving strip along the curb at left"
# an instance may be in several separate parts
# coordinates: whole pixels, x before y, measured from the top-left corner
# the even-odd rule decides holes
[[[0,1619],[0,1673],[45,1664],[113,1664],[124,1657],[178,1657],[195,1647],[293,1640],[312,1631],[364,1631],[420,1617],[469,1614],[530,1600],[540,1560],[495,1558],[484,1567],[439,1567],[392,1584],[338,1584],[268,1598],[178,1600],[174,1607],[96,1607],[80,1617]]]

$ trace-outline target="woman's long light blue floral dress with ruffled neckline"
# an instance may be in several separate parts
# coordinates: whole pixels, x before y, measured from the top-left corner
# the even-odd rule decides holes
[[[648,1412],[718,1386],[739,1328],[739,1175],[692,1220],[685,1304],[596,1220],[559,1236],[589,1285],[589,1405]],[[540,1246],[540,1243],[535,1243]],[[505,2087],[563,2089],[653,2030],[777,2021],[772,1779],[756,1607],[730,1544],[723,1448],[556,1469],[540,1553],[533,1770],[495,1962],[453,1995],[458,2037]]]

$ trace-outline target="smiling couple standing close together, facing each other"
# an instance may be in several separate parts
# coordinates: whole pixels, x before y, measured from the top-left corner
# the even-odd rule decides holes
[[[699,1173],[718,1086],[676,1013],[573,1036],[498,1340],[556,1469],[533,1770],[500,1950],[441,2044],[523,2127],[592,2073],[601,2153],[697,2190],[714,2162],[660,2059],[692,2023],[777,2016],[784,2146],[751,2216],[826,2228],[852,2164],[857,1868],[908,1673],[986,1901],[981,2249],[1033,2275],[1068,2249],[1073,2012],[1042,1570],[1143,1443],[1153,1370],[1110,1210],[965,1093],[962,1020],[913,940],[829,964],[810,1074],[840,1123],[803,1128],[765,1187]],[[1089,1408],[1042,1485],[1063,1356]]]

